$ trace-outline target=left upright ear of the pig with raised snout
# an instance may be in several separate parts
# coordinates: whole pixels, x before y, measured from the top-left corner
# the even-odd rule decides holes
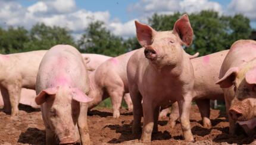
[[[135,21],[135,26],[139,44],[141,44],[142,47],[151,45],[152,37],[154,36],[156,31],[149,25],[142,24],[138,21]]]

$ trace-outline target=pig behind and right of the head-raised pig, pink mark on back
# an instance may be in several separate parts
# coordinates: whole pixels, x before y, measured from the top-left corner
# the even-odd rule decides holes
[[[219,51],[191,60],[195,75],[193,100],[198,105],[205,128],[211,127],[210,121],[210,99],[224,100],[224,93],[220,86],[216,85],[220,73],[220,67],[229,50]],[[160,118],[166,117],[170,109],[163,109]],[[176,125],[179,118],[177,102],[171,106],[170,121],[171,127]]]

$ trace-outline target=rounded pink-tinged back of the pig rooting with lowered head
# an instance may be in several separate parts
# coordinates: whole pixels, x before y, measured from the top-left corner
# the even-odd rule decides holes
[[[72,46],[57,45],[43,57],[37,81],[42,83],[42,88],[65,84],[83,88],[83,84],[89,81],[86,76],[82,54]]]

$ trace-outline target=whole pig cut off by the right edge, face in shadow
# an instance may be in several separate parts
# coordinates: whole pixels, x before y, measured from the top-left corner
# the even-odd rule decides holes
[[[229,133],[238,133],[238,124],[250,135],[256,126],[256,41],[238,40],[232,44],[216,82],[223,88]],[[236,124],[238,123],[238,124]]]

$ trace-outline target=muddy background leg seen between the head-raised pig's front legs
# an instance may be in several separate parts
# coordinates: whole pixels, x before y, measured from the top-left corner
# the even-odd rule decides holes
[[[168,121],[168,123],[171,125],[171,128],[175,127],[176,121],[179,119],[179,117],[180,117],[179,105],[178,105],[178,102],[174,102],[171,105],[170,120]]]

